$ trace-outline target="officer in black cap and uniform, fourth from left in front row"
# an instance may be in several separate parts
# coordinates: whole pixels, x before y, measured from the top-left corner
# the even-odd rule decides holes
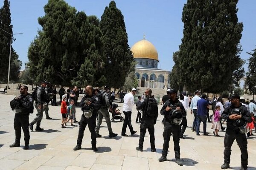
[[[165,102],[163,108],[161,109],[161,115],[165,116],[164,121],[164,131],[163,131],[163,150],[162,156],[158,159],[158,161],[166,161],[166,156],[169,148],[169,141],[171,133],[173,135],[173,142],[174,142],[174,152],[175,152],[175,159],[176,163],[180,166],[183,165],[182,161],[180,161],[180,123],[182,121],[182,115],[186,114],[185,108],[183,107],[182,103],[177,98],[177,91],[175,89],[171,89],[169,91],[170,99]],[[181,115],[180,117],[175,116],[175,112],[179,112]],[[180,118],[180,119],[177,119]],[[179,122],[176,122],[179,120]]]

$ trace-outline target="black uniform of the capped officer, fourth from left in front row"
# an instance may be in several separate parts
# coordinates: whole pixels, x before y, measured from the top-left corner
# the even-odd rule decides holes
[[[166,107],[171,106],[172,110],[175,110],[177,107],[180,107],[182,114],[185,115],[186,111],[183,107],[182,103],[179,101],[178,98],[173,101],[172,99],[167,100],[163,108],[161,109],[161,115],[164,115],[164,131],[163,131],[163,156],[167,156],[168,148],[169,148],[169,141],[171,134],[173,135],[173,142],[174,142],[174,152],[175,152],[175,159],[180,159],[180,125],[173,124],[173,117],[172,110],[166,111]]]

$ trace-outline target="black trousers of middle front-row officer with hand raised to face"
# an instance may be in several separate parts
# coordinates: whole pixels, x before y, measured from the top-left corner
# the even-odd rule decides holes
[[[145,133],[148,129],[148,133],[150,136],[150,146],[151,149],[155,149],[155,138],[154,138],[154,119],[149,118],[149,119],[142,119],[142,122],[140,124],[140,139],[139,139],[139,147],[143,148],[143,142],[144,142],[144,137]]]

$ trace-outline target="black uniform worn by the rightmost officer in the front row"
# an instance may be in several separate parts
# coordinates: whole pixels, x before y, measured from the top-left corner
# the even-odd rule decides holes
[[[234,105],[230,105],[223,113],[221,113],[221,119],[227,119],[227,130],[224,138],[224,162],[230,163],[230,155],[231,155],[231,146],[236,139],[236,142],[241,150],[241,165],[243,167],[247,167],[248,164],[248,152],[247,152],[247,139],[245,134],[239,133],[239,130],[236,130],[234,126],[234,121],[229,119],[229,116],[232,114],[232,111],[236,109],[241,113],[241,119],[246,122],[252,122],[250,111],[240,103],[240,107],[236,108]]]

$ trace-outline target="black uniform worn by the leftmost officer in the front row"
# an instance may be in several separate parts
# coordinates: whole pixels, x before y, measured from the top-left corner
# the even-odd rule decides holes
[[[15,100],[15,99],[14,99]],[[24,133],[25,146],[29,145],[29,113],[33,105],[33,98],[29,94],[26,96],[20,95],[17,98],[19,106],[15,109],[14,129],[15,129],[15,143],[20,144],[21,127]]]

